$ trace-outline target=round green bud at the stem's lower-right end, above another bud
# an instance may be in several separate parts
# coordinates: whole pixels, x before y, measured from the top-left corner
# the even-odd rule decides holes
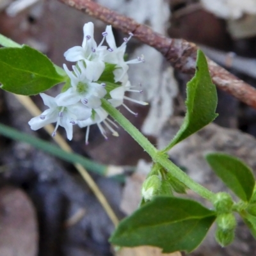
[[[234,202],[228,193],[220,192],[215,195],[213,205],[217,212],[227,213],[232,210]]]

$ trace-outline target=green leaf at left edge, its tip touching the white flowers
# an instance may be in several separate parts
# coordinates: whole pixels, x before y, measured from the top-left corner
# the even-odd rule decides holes
[[[56,72],[53,63],[27,45],[0,49],[1,88],[8,92],[35,95],[67,79]]]

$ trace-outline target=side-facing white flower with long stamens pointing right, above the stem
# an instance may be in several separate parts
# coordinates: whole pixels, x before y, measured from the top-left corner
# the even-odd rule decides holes
[[[113,106],[113,107],[118,107],[118,106],[124,106],[129,112],[131,112],[134,115],[138,115],[138,113],[134,113],[133,111],[131,111],[131,109],[129,109],[125,104],[124,104],[124,100],[130,100],[132,102],[136,102],[138,104],[141,105],[148,105],[147,102],[141,101],[141,100],[134,100],[130,97],[125,96],[125,92],[139,92],[142,93],[142,90],[132,90],[131,89],[131,83],[129,81],[127,81],[124,84],[122,84],[122,86],[119,86],[117,88],[115,88],[114,90],[112,90],[111,92],[109,92],[110,96],[112,99],[109,99],[109,103]]]

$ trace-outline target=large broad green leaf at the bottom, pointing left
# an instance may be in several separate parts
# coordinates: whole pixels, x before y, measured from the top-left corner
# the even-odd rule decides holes
[[[156,196],[120,222],[110,242],[118,246],[151,245],[163,253],[194,250],[216,219],[195,201]]]

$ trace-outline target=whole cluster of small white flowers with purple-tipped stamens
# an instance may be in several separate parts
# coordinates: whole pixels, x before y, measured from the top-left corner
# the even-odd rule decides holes
[[[67,61],[74,61],[72,71],[67,65],[63,65],[70,83],[63,87],[56,97],[51,97],[45,93],[40,93],[44,104],[49,107],[42,115],[36,116],[29,121],[31,129],[37,130],[44,125],[56,122],[56,127],[52,136],[55,136],[58,126],[65,128],[68,140],[72,140],[73,125],[87,127],[86,144],[90,125],[97,124],[102,135],[107,138],[103,125],[112,132],[114,136],[118,133],[113,129],[116,124],[109,120],[108,113],[101,107],[101,99],[107,99],[115,108],[124,104],[124,99],[147,105],[146,102],[131,99],[125,96],[125,92],[142,92],[132,90],[129,82],[127,70],[128,64],[144,62],[143,56],[136,60],[125,61],[124,54],[126,44],[132,37],[124,38],[124,43],[116,47],[115,38],[111,26],[106,27],[102,33],[102,41],[99,45],[93,38],[94,26],[92,22],[84,24],[84,38],[82,46],[75,46],[64,53]],[[103,45],[104,40],[108,46]],[[110,77],[110,78],[109,78]],[[111,80],[111,81],[109,81]]]

